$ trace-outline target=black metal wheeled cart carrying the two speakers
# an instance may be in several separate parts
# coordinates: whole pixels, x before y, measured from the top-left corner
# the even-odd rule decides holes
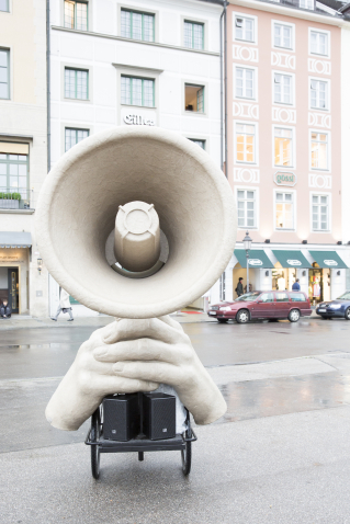
[[[137,394],[140,399],[140,395]],[[105,400],[105,399],[104,399]],[[137,453],[138,460],[144,460],[144,454],[147,452],[181,452],[182,472],[188,476],[192,464],[192,442],[197,440],[191,428],[190,412],[185,409],[185,428],[182,434],[176,434],[167,438],[149,438],[143,432],[140,423],[139,432],[136,436],[127,441],[116,441],[105,438],[104,436],[104,402],[102,402],[91,415],[91,428],[88,432],[84,443],[90,446],[91,452],[91,472],[94,479],[100,477],[100,457],[102,453]],[[140,417],[143,420],[143,417]]]

